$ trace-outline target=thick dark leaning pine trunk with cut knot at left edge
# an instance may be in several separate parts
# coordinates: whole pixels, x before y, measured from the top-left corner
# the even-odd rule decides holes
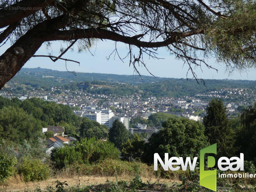
[[[65,15],[36,25],[20,37],[4,54],[0,56],[0,89],[23,67],[39,49],[47,33],[57,30],[67,22]]]

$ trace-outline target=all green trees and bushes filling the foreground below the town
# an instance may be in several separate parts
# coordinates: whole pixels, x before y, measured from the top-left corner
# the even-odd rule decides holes
[[[107,177],[120,175],[133,177],[133,179],[128,183],[123,181],[111,184],[111,187],[117,189],[118,186],[125,185],[124,190],[136,191],[144,189],[140,176],[150,175],[182,182],[181,185],[175,184],[173,187],[166,187],[165,190],[198,191],[201,187],[198,185],[197,168],[195,171],[164,171],[159,166],[158,171],[153,171],[153,154],[158,153],[162,159],[164,153],[177,157],[197,157],[200,149],[218,141],[232,141],[232,146],[226,143],[220,148],[220,154],[239,156],[240,152],[244,153],[244,171],[255,173],[253,143],[256,105],[248,109],[242,108],[241,116],[228,119],[223,102],[214,99],[207,107],[203,124],[165,113],[155,113],[147,121],[154,125],[161,124],[162,129],[153,133],[148,142],[145,142],[145,135],[129,135],[119,121],[115,121],[107,132],[107,129],[97,122],[74,117],[72,111],[62,105],[39,99],[29,99],[25,100],[26,102],[14,100],[12,115],[15,116],[9,123],[11,107],[8,106],[7,100],[1,98],[1,101],[0,118],[3,121],[0,122],[0,134],[4,139],[0,141],[0,182],[4,182],[15,174],[19,174],[24,182],[45,180],[57,172],[66,175]],[[52,150],[51,155],[46,154],[44,135],[41,133],[42,126],[49,124],[40,119],[42,115],[36,116],[38,114],[36,111],[40,110],[35,110],[45,105],[49,106],[47,115],[51,116],[51,121],[55,125],[65,125],[63,126],[65,130],[73,126],[74,131],[72,132],[71,129],[69,131],[78,139],[77,142],[63,148]],[[59,110],[63,113],[61,121],[58,118],[52,118],[58,114]],[[46,113],[43,111],[42,114]],[[8,117],[7,120],[6,117]],[[134,122],[136,121],[142,121],[142,119],[137,118]],[[76,126],[81,127],[80,131]],[[79,137],[81,131],[82,135],[87,133],[87,137]],[[47,135],[52,136],[52,133]],[[109,140],[104,141],[99,137],[109,138]],[[249,142],[245,144],[244,140]],[[19,149],[18,154],[15,152],[16,147]],[[230,147],[232,150],[229,150]],[[245,178],[241,181],[234,178],[218,179],[220,189],[228,186],[239,191],[242,190],[239,188],[241,184],[254,185],[253,180]],[[63,187],[65,183],[59,182],[57,185]],[[150,185],[147,184],[147,186]],[[63,187],[57,190],[69,189]],[[243,189],[254,190],[248,186]]]

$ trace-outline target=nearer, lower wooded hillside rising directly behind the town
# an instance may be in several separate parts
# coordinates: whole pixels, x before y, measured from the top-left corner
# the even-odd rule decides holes
[[[219,82],[220,81],[220,82]],[[255,89],[256,81],[231,81],[231,80],[205,80],[207,86],[197,84],[194,80],[186,79],[172,79],[154,83],[142,83],[133,85],[130,83],[107,83],[102,81],[82,81],[72,82],[62,86],[63,89],[73,90],[74,88],[83,90],[85,93],[91,94],[105,94],[105,95],[116,95],[116,96],[128,96],[134,93],[141,94],[142,98],[148,98],[150,96],[160,97],[184,97],[194,96],[198,93],[207,93],[208,91],[216,91],[223,88],[251,88]],[[219,83],[221,85],[219,85]],[[96,85],[96,86],[95,86]],[[98,86],[101,86],[100,88]],[[220,93],[220,95],[227,95],[227,92]],[[229,99],[225,101],[231,101],[231,95]],[[232,97],[232,98],[233,98]],[[208,97],[203,99],[209,100]],[[245,96],[238,95],[235,101],[247,100]]]

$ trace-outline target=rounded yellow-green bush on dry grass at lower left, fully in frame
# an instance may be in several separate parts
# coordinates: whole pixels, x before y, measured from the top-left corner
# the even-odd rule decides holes
[[[25,182],[44,180],[49,177],[49,166],[42,163],[39,159],[24,156],[22,160],[22,164],[18,168],[18,173]]]

